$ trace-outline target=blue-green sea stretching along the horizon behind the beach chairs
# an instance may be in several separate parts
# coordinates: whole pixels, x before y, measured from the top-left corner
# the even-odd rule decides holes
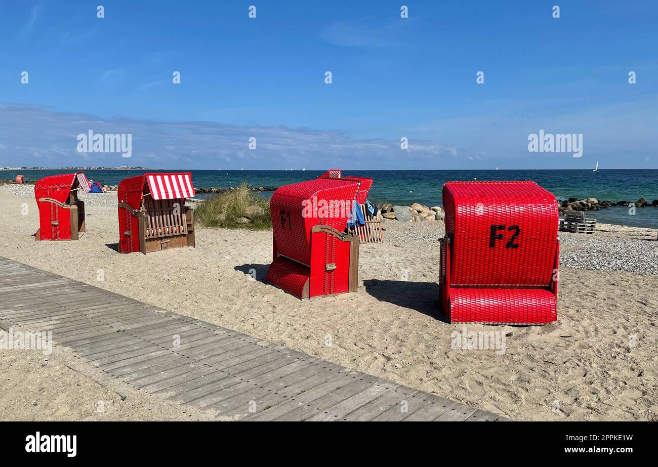
[[[20,173],[30,179],[39,179],[70,170],[5,170],[0,179],[15,178]],[[136,176],[144,170],[86,170],[88,178],[103,184],[116,185],[126,177]],[[150,172],[150,171],[149,171]],[[253,187],[274,186],[312,180],[324,170],[191,170],[196,187],[230,187],[248,182]],[[534,180],[553,192],[558,199],[595,197],[607,201],[630,201],[644,197],[651,203],[658,199],[658,170],[343,170],[345,175],[372,177],[370,190],[373,201],[393,204],[421,203],[441,205],[441,190],[451,180]],[[263,193],[271,196],[272,192]],[[199,195],[203,197],[204,195]],[[588,216],[599,222],[626,226],[658,228],[658,208],[636,210],[634,216],[626,208],[590,211]]]

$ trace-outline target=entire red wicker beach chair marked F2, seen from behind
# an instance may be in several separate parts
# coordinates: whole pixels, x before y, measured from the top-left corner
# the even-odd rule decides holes
[[[441,302],[450,322],[557,320],[558,207],[535,182],[443,185]]]

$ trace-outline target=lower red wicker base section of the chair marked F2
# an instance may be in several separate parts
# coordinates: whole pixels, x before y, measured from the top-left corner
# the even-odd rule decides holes
[[[547,289],[450,287],[448,308],[452,323],[548,324],[557,320],[557,301]]]

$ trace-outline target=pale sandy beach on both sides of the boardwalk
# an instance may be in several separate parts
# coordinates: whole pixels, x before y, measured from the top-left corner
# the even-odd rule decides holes
[[[445,322],[438,303],[442,222],[384,221],[385,242],[361,245],[357,293],[299,301],[265,282],[269,231],[197,226],[196,248],[120,255],[116,193],[82,199],[82,239],[37,242],[33,187],[0,187],[0,256],[516,420],[658,420],[656,230],[599,224],[594,235],[561,233],[559,320],[469,324],[505,333],[505,349],[462,350],[451,335],[465,326]],[[145,401],[71,360],[61,347],[47,360],[0,351],[0,418],[207,416]],[[111,410],[97,412],[101,400]]]

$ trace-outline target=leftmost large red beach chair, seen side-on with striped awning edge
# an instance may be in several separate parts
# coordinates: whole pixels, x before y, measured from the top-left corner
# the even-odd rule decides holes
[[[84,203],[78,189],[89,192],[91,185],[83,172],[44,177],[34,185],[39,207],[36,240],[77,240],[85,232]]]

